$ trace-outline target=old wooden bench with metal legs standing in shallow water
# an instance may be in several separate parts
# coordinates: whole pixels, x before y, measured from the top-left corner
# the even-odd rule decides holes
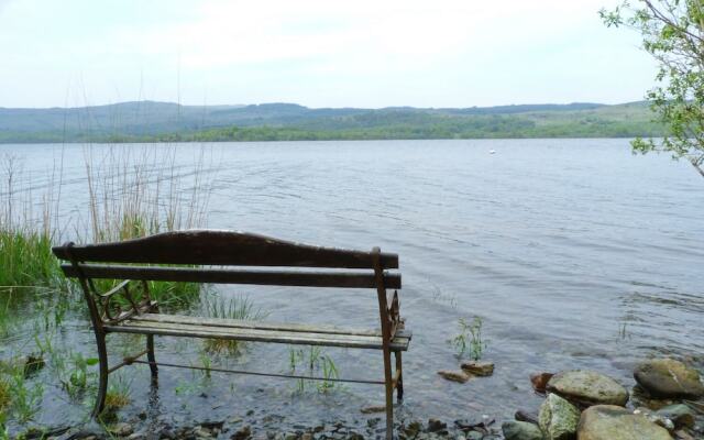
[[[157,363],[154,355],[155,336],[343,346],[382,352],[383,380],[337,381],[385,386],[386,437],[392,438],[393,393],[396,389],[400,402],[404,394],[402,352],[408,350],[411,338],[399,316],[397,290],[400,289],[400,274],[388,271],[398,268],[398,255],[382,253],[378,248],[372,252],[317,248],[262,235],[215,230],[166,232],[106,244],[66,243],[54,248],[53,252],[67,262],[62,264],[62,270],[67,277],[77,278],[90,311],[100,361],[94,416],[98,416],[105,407],[108,375],[124,365],[148,364],[153,378],[157,376],[160,364],[193,367]],[[99,292],[94,279],[119,279],[121,283],[108,292]],[[371,288],[377,294],[381,326],[380,329],[350,330],[332,326],[163,315],[158,305],[150,298],[147,282],[152,280]],[[387,290],[391,289],[394,294],[389,298]],[[334,298],[321,295],[321,300]],[[109,333],[145,334],[146,348],[120,363],[109,365],[106,348]],[[392,353],[395,366],[392,366]],[[146,361],[143,360],[145,355]],[[265,372],[211,370],[310,378]]]

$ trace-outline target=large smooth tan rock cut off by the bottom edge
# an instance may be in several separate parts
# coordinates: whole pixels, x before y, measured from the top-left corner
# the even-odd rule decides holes
[[[667,429],[614,405],[585,409],[578,432],[580,440],[672,440]]]

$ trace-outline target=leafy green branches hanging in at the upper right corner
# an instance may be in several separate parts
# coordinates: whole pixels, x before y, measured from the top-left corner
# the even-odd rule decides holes
[[[646,97],[667,128],[661,142],[636,139],[634,152],[663,151],[686,158],[704,177],[704,2],[624,1],[601,11],[607,26],[640,32],[642,47],[658,62],[657,85]]]

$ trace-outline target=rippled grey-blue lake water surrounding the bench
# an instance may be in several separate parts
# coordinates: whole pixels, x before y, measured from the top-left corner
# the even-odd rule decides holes
[[[593,369],[630,387],[632,366],[644,358],[667,353],[704,365],[704,179],[684,162],[634,156],[627,140],[168,147],[176,148],[179,169],[205,148],[208,227],[399,254],[400,309],[414,331],[400,417],[513,418],[516,409],[539,406],[528,380],[537,371]],[[100,157],[109,146],[90,148]],[[86,212],[87,151],[0,145],[0,155],[20,157],[34,194],[55,185],[46,169],[63,156],[62,211],[70,221]],[[222,290],[241,293],[271,320],[377,326],[373,292]],[[436,372],[459,363],[447,341],[460,318],[475,316],[484,322],[484,359],[496,363],[496,372],[464,385],[446,382]],[[82,319],[70,320],[57,338],[88,354],[95,350]],[[12,346],[3,354],[32,350],[29,342]],[[252,345],[237,360],[213,364],[287,371],[288,348],[274,346]],[[376,352],[324,352],[342,376],[382,374]],[[196,364],[199,345],[162,338],[157,359]],[[208,381],[163,369],[158,391],[151,392],[147,370],[123,374],[133,402],[122,414],[145,411],[147,425],[231,417],[261,422],[277,415],[283,425],[343,419],[366,426],[364,419],[376,416],[359,409],[383,403],[374,386],[328,394],[306,388],[301,396],[295,382],[215,373]],[[38,422],[81,420],[87,411],[66,405],[51,387],[43,405]]]

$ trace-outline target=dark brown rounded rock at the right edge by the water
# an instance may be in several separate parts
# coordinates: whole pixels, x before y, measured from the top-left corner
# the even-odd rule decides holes
[[[704,396],[700,373],[673,359],[642,362],[634,371],[634,377],[654,397],[696,399]]]

